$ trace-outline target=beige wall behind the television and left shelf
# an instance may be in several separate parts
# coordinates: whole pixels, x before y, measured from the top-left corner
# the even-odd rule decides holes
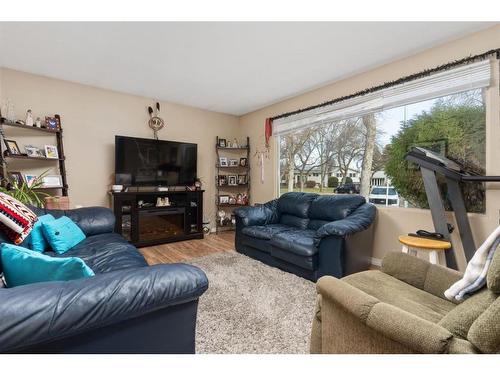
[[[23,119],[28,108],[42,118],[54,113],[61,115],[72,205],[108,205],[114,136],[152,137],[146,108],[153,105],[153,99],[9,69],[0,69],[0,74],[2,99],[15,103],[18,118]],[[161,109],[167,126],[159,132],[160,139],[198,144],[198,174],[206,189],[204,216],[213,221],[215,138],[237,137],[238,117],[167,102],[161,102]],[[7,138],[17,139],[21,147],[28,142],[38,146],[55,142],[53,137],[20,137],[16,130],[7,127],[5,132]],[[46,169],[47,164],[41,163],[46,162],[38,163],[32,170],[39,173]],[[32,165],[30,162],[27,167]],[[16,170],[16,165],[10,169]]]

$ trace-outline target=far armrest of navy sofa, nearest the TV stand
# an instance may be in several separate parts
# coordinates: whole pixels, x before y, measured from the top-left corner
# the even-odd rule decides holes
[[[93,236],[96,234],[112,233],[115,229],[115,215],[106,207],[82,207],[73,210],[47,210],[34,209],[37,215],[51,214],[55,218],[68,216],[85,233]]]

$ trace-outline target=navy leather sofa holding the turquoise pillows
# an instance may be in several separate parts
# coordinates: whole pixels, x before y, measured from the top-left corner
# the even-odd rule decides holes
[[[186,264],[148,266],[102,207],[68,211],[87,238],[63,255],[95,276],[0,288],[0,352],[194,353],[198,298],[206,275]],[[6,242],[5,237],[0,242]],[[1,268],[0,268],[1,271]]]

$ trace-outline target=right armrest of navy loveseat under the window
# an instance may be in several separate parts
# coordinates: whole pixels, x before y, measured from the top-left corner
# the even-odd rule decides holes
[[[321,240],[323,237],[328,236],[345,237],[361,232],[373,223],[376,212],[375,205],[365,203],[345,219],[332,221],[321,226],[316,231],[316,239]]]

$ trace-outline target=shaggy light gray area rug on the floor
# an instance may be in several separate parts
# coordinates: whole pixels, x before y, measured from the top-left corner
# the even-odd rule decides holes
[[[189,262],[208,276],[197,353],[309,353],[315,284],[236,252]]]

